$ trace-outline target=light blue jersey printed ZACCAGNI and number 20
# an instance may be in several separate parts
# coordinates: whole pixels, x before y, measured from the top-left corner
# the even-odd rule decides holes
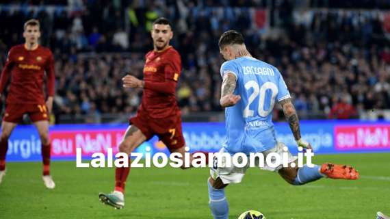
[[[226,107],[226,142],[229,153],[257,153],[276,146],[272,109],[290,97],[281,73],[274,66],[253,57],[224,62],[221,75],[233,73],[241,96],[233,107]]]

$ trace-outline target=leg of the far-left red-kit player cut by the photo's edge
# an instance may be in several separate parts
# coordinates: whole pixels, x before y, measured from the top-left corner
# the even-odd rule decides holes
[[[0,183],[5,176],[5,156],[8,151],[8,139],[11,136],[12,131],[16,127],[16,123],[9,123],[3,120],[1,124],[1,137],[0,137]]]

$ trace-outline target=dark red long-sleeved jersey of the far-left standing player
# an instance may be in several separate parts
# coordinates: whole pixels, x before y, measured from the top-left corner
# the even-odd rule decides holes
[[[7,103],[44,104],[44,73],[47,74],[47,96],[54,95],[54,58],[50,49],[38,46],[27,50],[24,44],[10,49],[0,79],[0,93],[3,93],[11,76]]]

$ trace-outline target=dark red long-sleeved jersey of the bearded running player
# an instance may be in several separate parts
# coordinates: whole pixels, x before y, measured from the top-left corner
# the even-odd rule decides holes
[[[176,86],[181,73],[181,57],[173,48],[150,51],[145,55],[144,92],[139,111],[151,118],[166,118],[180,114],[176,101]]]

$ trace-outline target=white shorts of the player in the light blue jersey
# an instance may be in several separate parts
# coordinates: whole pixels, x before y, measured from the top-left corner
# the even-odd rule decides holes
[[[283,152],[285,152],[283,151],[283,147],[285,147],[285,144],[283,144],[282,142],[278,142],[278,144],[276,144],[276,146],[274,146],[272,149],[261,152],[264,155],[264,161],[263,161],[264,166],[261,167],[261,169],[277,172],[278,170],[283,168],[283,164],[276,167],[271,167],[267,165],[267,162],[265,162],[265,157],[267,157],[267,155],[270,153],[277,153],[279,156],[282,157]],[[224,153],[224,149],[221,149],[220,152],[218,153]],[[287,157],[288,157],[289,164],[295,162],[297,159],[297,157],[291,155],[289,151],[287,151]],[[259,159],[257,159],[256,162],[257,162],[256,166],[259,166],[258,165]],[[222,159],[221,166],[218,166],[217,168],[210,168],[211,178],[217,179],[218,177],[220,177],[220,179],[224,184],[240,183],[242,181],[242,178],[244,178],[246,170],[248,170],[249,168],[249,162],[246,166],[242,168],[237,168],[234,165],[226,167],[224,164],[226,164],[226,160]]]

